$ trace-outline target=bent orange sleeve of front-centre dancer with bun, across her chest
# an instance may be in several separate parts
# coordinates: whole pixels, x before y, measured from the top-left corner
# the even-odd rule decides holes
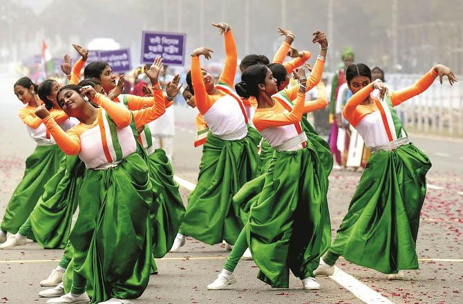
[[[305,94],[298,93],[296,97],[296,104],[291,112],[274,113],[274,111],[256,111],[252,122],[258,131],[272,127],[272,126],[287,126],[300,122],[304,110]]]

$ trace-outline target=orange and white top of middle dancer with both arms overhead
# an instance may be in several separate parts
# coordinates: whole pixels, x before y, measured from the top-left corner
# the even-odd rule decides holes
[[[236,73],[236,44],[230,31],[225,37],[225,66],[216,88],[219,93],[207,94],[202,80],[199,57],[191,57],[191,84],[196,106],[203,115],[209,131],[223,140],[240,140],[247,135],[247,115],[241,98],[234,92]]]

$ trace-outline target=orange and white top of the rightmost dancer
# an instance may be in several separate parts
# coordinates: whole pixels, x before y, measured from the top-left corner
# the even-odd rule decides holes
[[[401,122],[393,107],[426,91],[437,75],[438,73],[431,69],[413,86],[389,92],[390,104],[386,102],[386,98],[379,100],[376,97],[372,98],[372,104],[361,104],[373,91],[372,86],[366,86],[350,97],[344,106],[343,116],[359,132],[370,149],[405,137],[406,133],[401,128]]]

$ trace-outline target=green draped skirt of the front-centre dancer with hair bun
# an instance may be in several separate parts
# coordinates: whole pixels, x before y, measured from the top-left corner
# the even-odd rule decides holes
[[[260,269],[258,278],[287,288],[289,272],[313,276],[330,246],[326,171],[314,145],[275,152],[265,184],[249,211],[247,243]]]

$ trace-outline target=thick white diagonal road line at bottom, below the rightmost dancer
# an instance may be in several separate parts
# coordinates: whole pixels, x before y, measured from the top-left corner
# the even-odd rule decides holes
[[[334,274],[330,278],[365,303],[394,303],[336,266],[334,266]]]

